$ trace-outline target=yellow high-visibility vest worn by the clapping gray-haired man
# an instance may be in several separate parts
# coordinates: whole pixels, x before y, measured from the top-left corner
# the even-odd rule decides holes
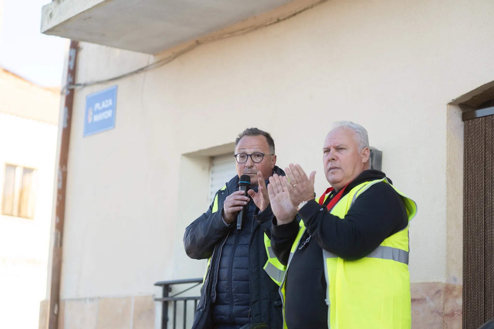
[[[361,183],[343,196],[330,211],[344,219],[355,199],[373,184],[385,182],[385,178]],[[407,209],[408,220],[417,212],[415,202],[390,184],[401,196]],[[326,196],[327,197],[327,196]],[[300,221],[297,237],[292,245],[288,266],[284,269],[280,294],[283,299],[285,320],[285,281],[289,265],[305,232]],[[344,260],[323,249],[323,261],[327,283],[326,303],[329,329],[410,329],[412,310],[410,297],[409,225],[386,238],[371,254],[358,260]],[[272,258],[269,258],[270,261]],[[265,269],[267,266],[265,266]],[[277,268],[275,264],[268,268]],[[267,271],[273,280],[279,278],[274,270]],[[301,282],[300,284],[303,284]],[[284,321],[285,322],[285,321]],[[288,329],[286,323],[284,328]]]

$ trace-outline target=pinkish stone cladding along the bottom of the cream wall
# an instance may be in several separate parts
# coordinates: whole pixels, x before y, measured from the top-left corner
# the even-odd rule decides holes
[[[461,329],[462,286],[411,284],[412,329]],[[40,304],[39,329],[46,329],[48,300]],[[58,329],[154,329],[153,296],[62,299]]]

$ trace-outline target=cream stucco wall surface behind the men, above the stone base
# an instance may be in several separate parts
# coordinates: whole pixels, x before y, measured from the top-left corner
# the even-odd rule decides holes
[[[220,154],[211,148],[232,143],[246,127],[267,130],[280,166],[297,162],[317,171],[319,194],[328,187],[323,140],[340,119],[367,128],[371,146],[383,152],[383,171],[417,202],[412,294],[418,287],[418,302],[431,289],[442,296],[441,285],[461,283],[461,250],[448,260],[448,246],[456,247],[447,243],[447,232],[461,241],[461,218],[453,214],[456,226],[447,229],[448,211],[461,211],[448,210],[461,194],[448,199],[447,188],[461,186],[461,179],[451,181],[447,169],[462,173],[453,155],[463,128],[459,112],[448,116],[457,109],[447,105],[494,80],[494,44],[486,42],[494,37],[493,11],[492,1],[331,0],[152,71],[78,90],[62,298],[158,294],[156,281],[201,277],[205,262],[186,258],[181,239],[183,228],[206,211],[207,157]],[[81,47],[78,82],[155,60]],[[85,96],[114,84],[116,128],[83,138]],[[451,141],[456,146],[448,148]],[[435,302],[417,307],[443,312],[442,300]],[[426,320],[423,328],[443,322],[442,316]]]

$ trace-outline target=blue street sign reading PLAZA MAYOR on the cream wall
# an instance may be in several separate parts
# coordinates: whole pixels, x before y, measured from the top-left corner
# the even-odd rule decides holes
[[[86,96],[84,136],[115,128],[117,86]]]

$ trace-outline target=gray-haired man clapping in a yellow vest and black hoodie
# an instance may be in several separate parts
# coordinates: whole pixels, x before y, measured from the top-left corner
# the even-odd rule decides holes
[[[408,227],[415,203],[371,169],[369,138],[359,124],[333,125],[323,164],[331,187],[316,200],[316,173],[307,177],[298,164],[267,186],[275,216],[271,248],[281,264],[269,258],[266,271],[283,278],[285,328],[410,329]]]

